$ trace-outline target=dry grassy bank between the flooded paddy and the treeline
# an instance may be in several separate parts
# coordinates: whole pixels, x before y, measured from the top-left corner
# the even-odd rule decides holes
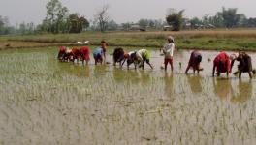
[[[165,38],[168,35],[175,37],[176,47],[178,48],[256,50],[256,29],[181,32],[86,32],[81,34],[7,36],[0,38],[2,43],[0,48],[68,45],[68,43],[87,40],[92,45],[99,45],[101,40],[106,40],[112,46],[159,48],[165,43]],[[9,46],[6,46],[8,44]]]

